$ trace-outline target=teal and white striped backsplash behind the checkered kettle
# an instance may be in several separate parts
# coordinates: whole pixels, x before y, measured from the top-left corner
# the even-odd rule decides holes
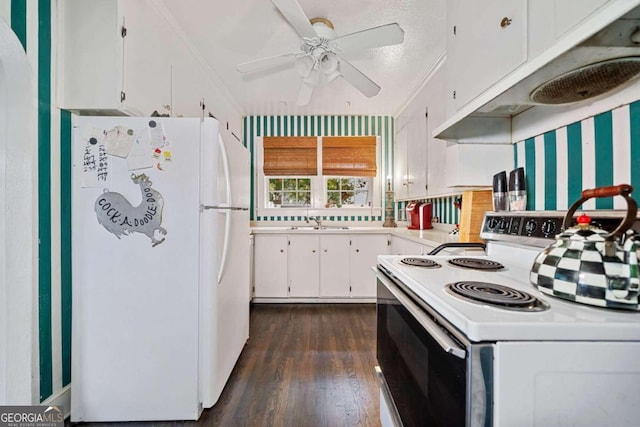
[[[566,210],[583,189],[618,184],[631,184],[638,199],[640,101],[518,141],[514,164],[525,168],[527,210]],[[583,208],[625,209],[626,203],[591,199]]]

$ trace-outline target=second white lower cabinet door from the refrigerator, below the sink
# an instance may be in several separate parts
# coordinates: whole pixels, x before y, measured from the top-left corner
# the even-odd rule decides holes
[[[289,296],[317,298],[320,295],[320,236],[289,236]]]

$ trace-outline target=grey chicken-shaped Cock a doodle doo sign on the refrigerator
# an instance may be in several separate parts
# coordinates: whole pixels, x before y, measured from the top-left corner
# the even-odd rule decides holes
[[[132,174],[131,180],[140,187],[140,204],[132,206],[122,194],[105,189],[93,207],[98,222],[118,239],[131,233],[142,233],[151,239],[151,246],[159,245],[165,239],[160,236],[167,234],[160,226],[164,206],[162,195],[151,188],[152,182],[145,174]]]

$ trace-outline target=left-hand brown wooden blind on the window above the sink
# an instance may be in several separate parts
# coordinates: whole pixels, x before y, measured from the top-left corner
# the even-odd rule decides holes
[[[318,142],[315,136],[265,136],[263,146],[265,175],[318,174]]]

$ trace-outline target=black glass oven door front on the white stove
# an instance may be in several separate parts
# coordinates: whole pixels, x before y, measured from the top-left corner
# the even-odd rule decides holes
[[[377,356],[405,426],[464,426],[466,360],[446,353],[378,281]]]

